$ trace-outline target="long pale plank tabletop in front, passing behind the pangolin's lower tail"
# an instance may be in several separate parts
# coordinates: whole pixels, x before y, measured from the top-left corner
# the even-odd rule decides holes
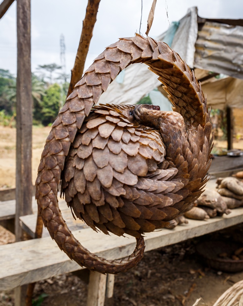
[[[173,230],[163,229],[146,234],[145,251],[175,244],[243,222],[243,207],[229,215],[207,221],[189,220]],[[132,253],[134,238],[96,233],[91,228],[73,232],[91,252],[108,259],[118,259]],[[52,276],[77,271],[80,266],[61,252],[50,238],[40,238],[0,246],[0,289],[9,290]]]

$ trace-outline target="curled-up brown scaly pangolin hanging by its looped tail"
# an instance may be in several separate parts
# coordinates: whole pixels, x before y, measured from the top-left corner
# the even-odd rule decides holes
[[[138,62],[159,76],[173,111],[94,106],[118,73]],[[136,35],[107,47],[68,96],[40,160],[38,212],[60,249],[101,273],[137,265],[143,233],[168,225],[202,193],[212,149],[209,113],[194,73],[165,43]],[[72,212],[91,228],[136,237],[133,254],[105,260],[86,250],[62,218],[60,182]]]

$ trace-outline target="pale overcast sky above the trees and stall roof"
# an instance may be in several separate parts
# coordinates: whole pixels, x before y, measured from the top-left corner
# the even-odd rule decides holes
[[[70,72],[78,48],[87,3],[88,0],[31,1],[33,72],[38,65],[61,64],[61,34],[64,35],[66,45],[66,72]],[[143,0],[141,33],[144,36],[151,4],[152,0]],[[242,0],[157,0],[149,36],[155,38],[165,32],[169,23],[181,19],[192,6],[197,6],[198,15],[201,17],[243,19]],[[141,0],[101,0],[85,69],[106,46],[116,42],[120,37],[130,37],[136,31],[139,32],[140,18]],[[14,75],[17,71],[16,45],[16,2],[14,2],[0,19],[0,68],[8,69]]]

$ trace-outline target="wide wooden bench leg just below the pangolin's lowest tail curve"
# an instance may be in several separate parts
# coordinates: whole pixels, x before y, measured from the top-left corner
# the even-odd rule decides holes
[[[90,271],[87,306],[104,306],[106,278],[104,274]]]

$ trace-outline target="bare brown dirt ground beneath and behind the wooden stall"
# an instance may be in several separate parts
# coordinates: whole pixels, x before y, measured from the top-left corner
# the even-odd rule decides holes
[[[33,127],[33,184],[50,129]],[[16,130],[0,126],[0,132],[0,188],[15,187]],[[226,142],[214,143],[217,147],[226,147]],[[243,149],[243,140],[235,142],[234,146]],[[198,257],[195,246],[201,240],[217,239],[222,235],[239,240],[242,233],[243,226],[237,226],[145,253],[136,268],[115,277],[114,297],[107,300],[106,305],[192,306],[201,297],[199,305],[212,306],[227,288],[243,279],[243,273],[228,274],[209,269]],[[0,244],[12,242],[14,235],[0,226]],[[87,284],[70,273],[38,282],[33,305],[84,306],[86,297]],[[0,291],[0,305],[14,305],[13,291]]]

